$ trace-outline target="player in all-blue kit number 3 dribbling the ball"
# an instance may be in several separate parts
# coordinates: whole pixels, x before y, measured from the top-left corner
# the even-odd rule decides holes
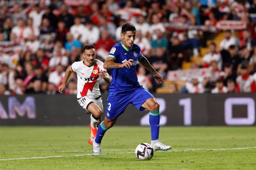
[[[101,140],[105,132],[111,128],[118,116],[124,113],[125,108],[131,103],[139,110],[150,111],[151,146],[154,150],[168,150],[158,141],[160,128],[159,103],[154,96],[146,91],[138,82],[136,64],[139,61],[154,76],[158,84],[162,84],[164,78],[150,65],[148,60],[141,54],[141,49],[134,44],[136,28],[131,23],[122,26],[122,41],[116,43],[103,67],[111,69],[112,81],[109,86],[109,95],[106,105],[105,119],[98,126],[98,132],[93,140],[93,155],[101,154]]]

